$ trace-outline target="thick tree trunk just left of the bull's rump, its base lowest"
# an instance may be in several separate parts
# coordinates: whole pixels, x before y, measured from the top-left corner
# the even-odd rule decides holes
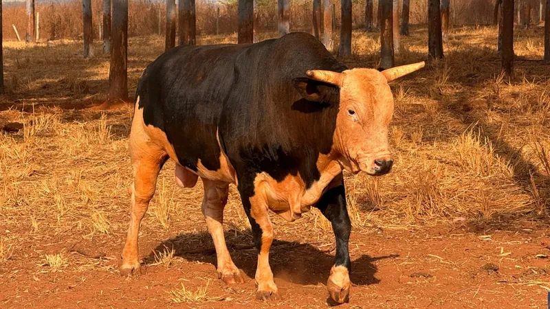
[[[111,66],[109,102],[128,100],[128,0],[113,0],[111,22]]]

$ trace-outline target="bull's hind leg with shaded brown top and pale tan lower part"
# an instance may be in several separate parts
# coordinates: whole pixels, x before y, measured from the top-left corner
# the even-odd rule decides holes
[[[223,236],[223,208],[228,202],[229,183],[208,179],[202,179],[202,182],[204,185],[202,213],[216,248],[218,275],[227,284],[244,283],[239,268],[231,260]]]

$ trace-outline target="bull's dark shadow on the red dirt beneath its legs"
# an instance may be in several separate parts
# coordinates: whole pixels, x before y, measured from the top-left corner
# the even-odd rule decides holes
[[[257,251],[251,238],[233,238],[232,231],[226,233],[226,241],[233,262],[248,277],[254,278],[256,273]],[[189,261],[216,264],[216,253],[208,233],[180,233],[174,238],[165,240],[154,251],[174,249],[175,256]],[[327,251],[330,251],[328,249]],[[274,240],[270,250],[270,265],[275,278],[302,285],[327,284],[334,255],[311,244]],[[362,255],[351,262],[351,282],[359,286],[377,284],[380,279],[375,277],[377,260],[396,258],[398,255],[371,257]],[[155,261],[153,253],[144,258],[146,264]]]

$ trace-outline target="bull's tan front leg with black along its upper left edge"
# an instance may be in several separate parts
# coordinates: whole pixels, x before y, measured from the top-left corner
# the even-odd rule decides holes
[[[251,182],[239,182],[239,193],[243,201],[254,244],[258,249],[258,266],[256,267],[256,298],[264,301],[281,299],[277,286],[273,281],[270,266],[270,247],[273,242],[273,225],[267,215],[267,201],[263,191],[263,184],[254,186]]]

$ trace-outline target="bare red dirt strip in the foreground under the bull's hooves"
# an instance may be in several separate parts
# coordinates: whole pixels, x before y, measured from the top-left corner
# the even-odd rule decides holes
[[[532,308],[547,306],[549,229],[518,229],[474,233],[467,227],[428,230],[373,229],[352,233],[351,299],[341,308]],[[150,233],[148,231],[147,233]],[[324,232],[329,234],[330,232]],[[232,233],[228,233],[232,234]],[[486,235],[485,235],[486,234]],[[156,236],[156,237],[155,237]],[[226,286],[217,279],[215,255],[186,253],[200,249],[197,233],[179,236],[155,233],[141,238],[142,255],[162,247],[162,239],[176,250],[170,268],[148,266],[136,278],[116,270],[124,237],[109,242],[83,241],[26,244],[24,254],[0,264],[2,308],[301,308],[326,307],[325,287],[333,247],[316,247],[311,231],[278,235],[271,263],[283,301],[254,299],[254,249],[232,251],[245,273],[245,284]],[[323,236],[324,237],[324,236]],[[98,238],[99,239],[99,238]],[[156,240],[155,240],[156,239]],[[235,243],[228,236],[229,244]],[[312,244],[302,241],[310,241]],[[195,242],[195,244],[193,244]],[[208,245],[210,246],[210,245]],[[207,247],[208,248],[208,247]],[[502,248],[502,249],[501,249]],[[48,272],[38,268],[43,253],[66,249],[73,271]],[[200,250],[199,250],[200,251]],[[210,252],[209,252],[210,253]],[[542,255],[541,255],[542,254]],[[102,257],[102,258],[100,258]],[[151,257],[145,258],[151,263]],[[495,264],[498,267],[494,271]],[[16,266],[17,265],[17,266]],[[26,268],[19,269],[21,265]],[[17,269],[17,270],[14,270]],[[412,275],[412,276],[411,276]],[[195,291],[208,282],[212,301],[175,304],[169,291],[184,283]]]

